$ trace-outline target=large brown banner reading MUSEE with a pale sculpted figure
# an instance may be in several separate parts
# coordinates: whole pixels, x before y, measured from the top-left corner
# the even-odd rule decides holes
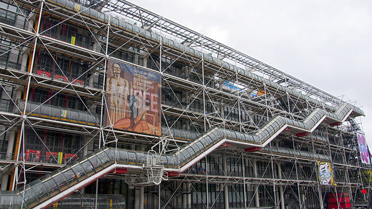
[[[109,60],[106,80],[106,125],[161,135],[161,75]]]

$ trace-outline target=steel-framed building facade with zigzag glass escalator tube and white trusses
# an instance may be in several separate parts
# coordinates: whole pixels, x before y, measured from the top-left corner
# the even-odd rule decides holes
[[[125,0],[0,0],[0,207],[369,207],[361,108]]]

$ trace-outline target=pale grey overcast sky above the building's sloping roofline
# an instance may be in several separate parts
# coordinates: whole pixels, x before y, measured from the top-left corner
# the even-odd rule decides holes
[[[366,114],[357,121],[362,120],[372,146],[372,1],[132,2],[334,96],[357,101]]]

